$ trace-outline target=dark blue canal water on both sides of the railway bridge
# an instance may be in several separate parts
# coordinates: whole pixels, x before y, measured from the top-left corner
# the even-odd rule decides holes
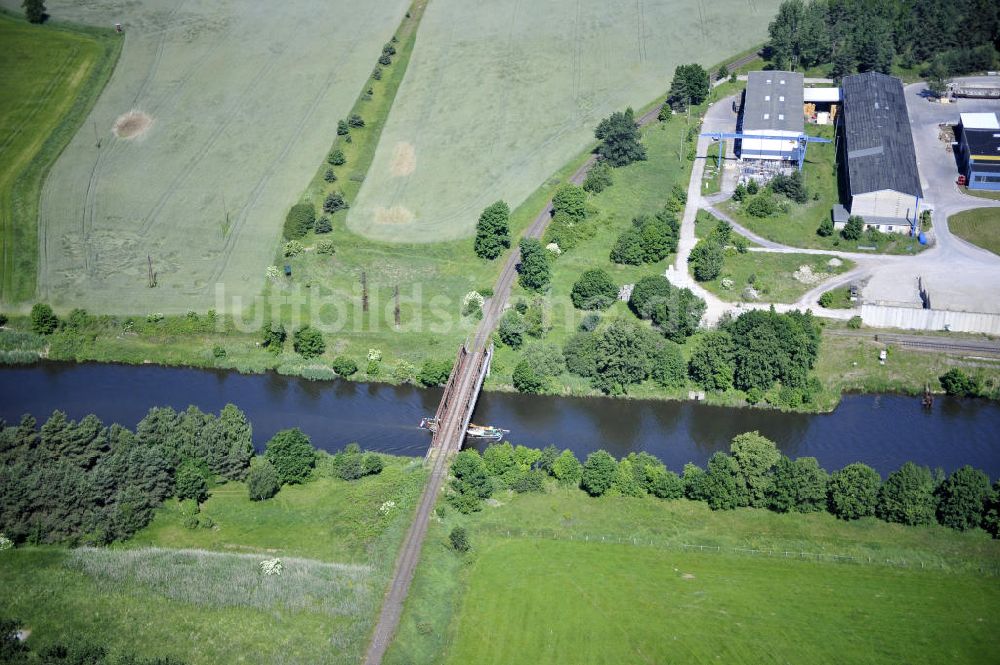
[[[232,402],[253,423],[258,448],[278,430],[298,427],[313,444],[422,456],[430,435],[417,428],[434,414],[440,389],[349,381],[308,381],[275,373],[154,365],[43,362],[0,368],[0,418],[54,409],[78,419],[94,413],[127,427],[153,406],[219,411]],[[916,397],[846,395],[829,414],[781,413],[692,402],[575,398],[484,392],[473,417],[510,430],[515,444],[553,444],[579,457],[603,448],[621,457],[645,450],[680,472],[728,450],[740,432],[759,430],[790,457],[813,456],[828,470],[865,462],[883,476],[914,461],[951,471],[963,464],[1000,476],[1000,403],[938,397],[930,411]]]

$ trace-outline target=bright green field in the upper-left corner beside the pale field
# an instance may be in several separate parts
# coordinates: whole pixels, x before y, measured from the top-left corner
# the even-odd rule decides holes
[[[111,75],[121,39],[0,9],[0,44],[0,303],[11,303],[34,294],[42,182]]]

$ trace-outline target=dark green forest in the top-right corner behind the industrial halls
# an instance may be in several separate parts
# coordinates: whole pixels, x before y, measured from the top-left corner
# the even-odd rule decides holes
[[[1000,5],[991,0],[785,0],[768,26],[767,56],[778,69],[832,64],[890,73],[893,64],[945,75],[993,69]]]

